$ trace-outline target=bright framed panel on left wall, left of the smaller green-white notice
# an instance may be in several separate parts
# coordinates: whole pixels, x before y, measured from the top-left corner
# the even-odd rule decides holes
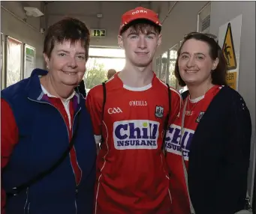
[[[7,37],[7,73],[6,87],[21,79],[22,43],[12,37]]]

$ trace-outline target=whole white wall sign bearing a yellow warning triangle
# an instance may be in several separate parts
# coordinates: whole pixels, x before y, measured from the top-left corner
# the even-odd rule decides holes
[[[222,47],[227,61],[227,84],[238,91],[239,52],[241,41],[242,14],[221,25],[218,31],[218,44]]]

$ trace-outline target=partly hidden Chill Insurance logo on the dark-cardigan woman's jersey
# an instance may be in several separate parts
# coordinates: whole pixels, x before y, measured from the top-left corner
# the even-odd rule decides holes
[[[189,148],[191,144],[191,140],[194,135],[194,131],[191,129],[184,129],[181,138],[181,127],[176,125],[171,125],[167,131],[165,138],[165,146],[167,152],[175,153],[177,155],[182,155],[181,146],[183,149],[183,156],[185,160],[188,160]]]

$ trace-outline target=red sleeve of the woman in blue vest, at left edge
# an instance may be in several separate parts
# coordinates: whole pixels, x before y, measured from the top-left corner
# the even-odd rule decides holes
[[[18,138],[19,132],[13,111],[9,104],[1,99],[1,172],[8,164]],[[1,188],[1,213],[5,213],[5,201],[5,189]]]

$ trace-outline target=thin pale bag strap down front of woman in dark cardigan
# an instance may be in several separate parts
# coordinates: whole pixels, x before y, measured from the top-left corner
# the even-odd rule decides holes
[[[187,171],[187,168],[185,167],[185,160],[184,160],[184,156],[183,156],[183,148],[182,148],[182,144],[181,144],[182,143],[182,136],[184,134],[183,132],[184,132],[184,120],[185,120],[185,108],[187,106],[187,103],[188,103],[188,97],[185,100],[185,104],[184,104],[184,107],[183,107],[183,110],[182,110],[182,126],[181,126],[181,136],[180,136],[180,139],[179,139],[179,144],[180,144],[180,148],[182,150],[182,165],[183,165],[183,171],[184,171],[184,176],[185,176],[185,184],[186,184],[187,192],[188,192],[188,201],[189,201],[190,213],[191,214],[195,214],[194,207],[193,207],[193,204],[191,202],[190,195],[189,195],[189,190],[188,190],[188,171]]]

